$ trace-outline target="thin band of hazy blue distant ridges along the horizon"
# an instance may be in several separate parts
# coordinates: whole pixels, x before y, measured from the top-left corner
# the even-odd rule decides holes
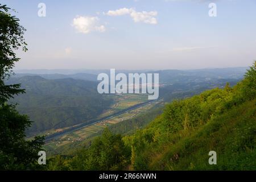
[[[213,81],[218,79],[238,79],[241,80],[248,67],[236,67],[236,68],[212,68],[212,69],[191,69],[191,70],[177,70],[177,69],[165,69],[158,71],[147,70],[115,70],[115,73],[159,73],[159,82],[164,84],[174,84],[180,82],[203,82]],[[22,76],[40,76],[47,79],[61,79],[61,78],[74,78],[79,80],[97,81],[97,75],[99,73],[107,73],[109,75],[110,70],[20,70],[15,71],[14,77]],[[65,74],[67,73],[67,74]]]

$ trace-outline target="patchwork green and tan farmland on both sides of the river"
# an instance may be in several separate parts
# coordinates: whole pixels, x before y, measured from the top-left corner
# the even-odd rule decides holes
[[[146,101],[148,101],[147,96],[142,96],[139,94],[126,94],[126,96],[117,95],[115,96],[115,104],[112,106],[112,109],[106,111],[104,114],[101,114],[98,118],[108,116],[110,114],[115,113],[116,111],[121,111],[123,109],[127,109],[128,107],[141,104]],[[94,123],[93,125],[83,127],[82,129],[73,131],[71,133],[62,135],[57,139],[52,139],[48,141],[45,144],[44,148],[48,152],[51,152],[61,146],[65,146],[66,144],[81,142],[86,138],[89,138],[92,135],[97,134],[99,131],[104,130],[105,127],[114,125],[116,123],[125,121],[127,119],[134,118],[136,115],[146,112],[148,109],[151,109],[153,106],[159,103],[160,101],[156,101],[156,102],[138,107],[137,109],[127,111],[126,113],[116,115],[115,117]],[[58,129],[58,130],[61,130],[61,129]]]

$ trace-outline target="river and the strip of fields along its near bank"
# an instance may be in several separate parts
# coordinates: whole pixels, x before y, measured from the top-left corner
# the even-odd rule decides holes
[[[127,100],[125,100],[124,102],[127,102]],[[106,127],[110,127],[119,122],[132,119],[139,114],[147,113],[147,111],[152,109],[152,107],[159,107],[160,105],[163,105],[162,100],[145,102],[142,105],[133,105],[132,107],[127,107],[129,105],[126,105],[126,109],[123,109],[118,114],[110,114],[108,115],[108,118],[100,119],[89,125],[79,125],[78,127],[73,126],[75,127],[75,129],[73,130],[71,129],[72,127],[69,127],[67,129],[57,129],[52,133],[48,133],[49,136],[46,136],[46,144],[44,145],[44,148],[50,154],[55,153],[58,148],[65,146],[66,144],[81,143],[85,139],[98,135],[100,131],[103,131]],[[51,137],[51,135],[53,135],[53,137]]]

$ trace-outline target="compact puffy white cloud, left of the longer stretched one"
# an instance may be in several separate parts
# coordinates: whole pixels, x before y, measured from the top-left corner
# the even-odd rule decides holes
[[[78,16],[73,19],[72,26],[76,28],[78,32],[88,34],[92,31],[104,32],[105,26],[99,25],[100,19],[97,16]]]

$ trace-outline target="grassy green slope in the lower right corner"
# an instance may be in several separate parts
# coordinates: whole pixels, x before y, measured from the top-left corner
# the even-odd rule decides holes
[[[253,100],[212,119],[177,143],[164,147],[150,163],[150,169],[256,169],[255,113]],[[208,163],[211,150],[217,152],[217,165]]]

